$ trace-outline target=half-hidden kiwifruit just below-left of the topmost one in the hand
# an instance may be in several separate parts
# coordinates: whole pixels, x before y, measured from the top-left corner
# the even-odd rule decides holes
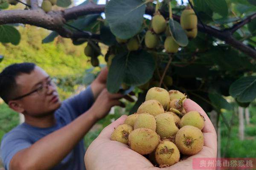
[[[157,100],[147,100],[140,105],[137,113],[149,113],[153,116],[156,116],[160,113],[164,113],[164,109],[161,103]]]

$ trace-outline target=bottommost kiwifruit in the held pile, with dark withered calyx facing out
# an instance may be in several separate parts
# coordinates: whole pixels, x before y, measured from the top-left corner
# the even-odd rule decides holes
[[[173,142],[163,141],[157,146],[155,159],[160,165],[171,166],[180,160],[180,151]]]

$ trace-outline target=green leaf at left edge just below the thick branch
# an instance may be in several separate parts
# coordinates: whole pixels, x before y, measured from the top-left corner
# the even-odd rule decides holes
[[[0,26],[0,42],[11,42],[13,45],[20,43],[20,32],[13,26]]]

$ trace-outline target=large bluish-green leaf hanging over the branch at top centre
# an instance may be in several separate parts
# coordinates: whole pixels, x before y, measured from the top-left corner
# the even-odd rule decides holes
[[[112,33],[121,39],[128,39],[139,33],[145,8],[142,0],[109,1],[105,15]]]

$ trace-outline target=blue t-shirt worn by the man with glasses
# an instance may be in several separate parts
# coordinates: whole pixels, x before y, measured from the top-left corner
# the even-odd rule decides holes
[[[93,92],[88,86],[86,90],[62,102],[55,111],[56,124],[53,127],[39,128],[22,123],[3,136],[0,154],[6,170],[12,157],[20,150],[30,147],[33,143],[72,122],[93,104]],[[61,142],[61,141],[60,141]],[[65,141],[63,141],[65,142]],[[84,142],[81,140],[73,150],[52,170],[85,170]]]

